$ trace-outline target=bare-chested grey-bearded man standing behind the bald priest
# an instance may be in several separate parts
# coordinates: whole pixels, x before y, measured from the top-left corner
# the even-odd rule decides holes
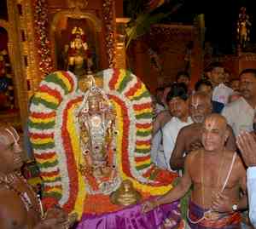
[[[193,122],[189,126],[183,127],[177,135],[176,144],[172,152],[170,160],[171,168],[174,170],[183,169],[185,157],[184,154],[201,148],[201,130],[203,122],[207,115],[212,112],[212,102],[208,94],[203,92],[195,92],[189,98],[189,113]],[[236,150],[236,140],[232,129],[230,136],[226,142],[226,148],[229,150]]]

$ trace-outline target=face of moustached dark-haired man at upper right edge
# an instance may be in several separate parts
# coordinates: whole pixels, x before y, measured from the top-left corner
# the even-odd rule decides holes
[[[242,96],[249,100],[256,97],[256,76],[253,73],[244,73],[240,78]]]

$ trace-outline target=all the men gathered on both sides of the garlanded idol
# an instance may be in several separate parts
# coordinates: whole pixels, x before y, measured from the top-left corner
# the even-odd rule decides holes
[[[256,69],[229,77],[224,66],[212,63],[195,89],[189,74],[178,72],[175,83],[156,90],[151,159],[180,180],[164,196],[143,203],[143,213],[191,190],[191,229],[256,226]],[[20,152],[18,133],[1,123],[0,228],[68,228],[67,214],[59,206],[44,212],[20,175]],[[247,210],[249,221],[241,217]]]

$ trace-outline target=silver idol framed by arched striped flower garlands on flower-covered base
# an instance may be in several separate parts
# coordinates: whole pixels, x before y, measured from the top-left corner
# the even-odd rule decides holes
[[[79,218],[124,215],[168,192],[177,175],[151,162],[151,130],[150,94],[131,72],[108,69],[79,80],[71,72],[49,74],[29,117],[44,206],[58,203]],[[164,220],[165,210],[156,210]]]

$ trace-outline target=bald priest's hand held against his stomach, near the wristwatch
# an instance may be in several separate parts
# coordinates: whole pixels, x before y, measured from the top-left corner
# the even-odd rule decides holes
[[[233,203],[230,202],[230,198],[222,193],[218,193],[212,201],[212,210],[225,213],[231,212]]]

